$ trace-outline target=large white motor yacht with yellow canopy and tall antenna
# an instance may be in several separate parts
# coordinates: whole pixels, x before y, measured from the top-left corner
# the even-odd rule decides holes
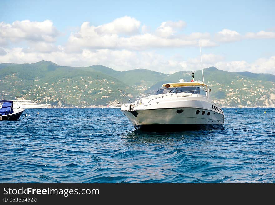
[[[135,129],[167,131],[220,129],[224,113],[210,98],[211,89],[203,81],[165,83],[153,95],[123,104],[121,111]]]

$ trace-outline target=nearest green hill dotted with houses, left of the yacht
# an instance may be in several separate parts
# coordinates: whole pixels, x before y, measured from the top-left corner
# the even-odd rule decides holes
[[[24,96],[56,107],[88,107],[123,102],[137,94],[112,76],[84,68],[59,66],[50,61],[0,65],[0,98],[5,100]]]

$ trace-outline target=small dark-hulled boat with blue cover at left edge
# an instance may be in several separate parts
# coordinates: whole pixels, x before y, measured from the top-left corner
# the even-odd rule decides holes
[[[0,120],[19,120],[25,109],[13,109],[12,106],[12,101],[0,100]]]

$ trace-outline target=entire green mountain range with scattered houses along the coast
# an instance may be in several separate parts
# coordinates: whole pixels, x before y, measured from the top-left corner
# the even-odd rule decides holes
[[[275,76],[250,72],[204,69],[211,97],[223,107],[275,107]],[[202,71],[194,71],[202,81]],[[102,65],[59,66],[51,61],[0,64],[0,99],[24,96],[53,107],[107,106],[127,103],[142,93],[156,92],[164,83],[190,81],[192,72],[164,74],[147,69],[116,71]]]

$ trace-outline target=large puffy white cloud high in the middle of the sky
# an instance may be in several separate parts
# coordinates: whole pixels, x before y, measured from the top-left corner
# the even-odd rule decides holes
[[[125,20],[121,18],[120,21]],[[128,21],[127,17],[127,21]],[[128,21],[137,28],[139,24],[135,21]],[[128,25],[127,24],[127,25]],[[115,25],[112,23],[112,25]],[[104,26],[104,25],[103,25]],[[68,39],[66,50],[68,52],[82,52],[83,49],[127,49],[146,50],[151,48],[173,48],[184,46],[198,46],[198,38],[202,38],[205,47],[216,46],[217,44],[208,39],[208,33],[192,33],[191,35],[176,35],[177,29],[183,28],[185,22],[163,22],[156,33],[149,33],[147,27],[142,27],[143,34],[120,36],[117,32],[98,32],[103,26],[90,26],[84,22],[77,33],[72,33]],[[110,26],[108,26],[110,27]],[[131,26],[129,26],[131,27]],[[114,30],[116,28],[112,27]],[[109,30],[108,30],[109,31]],[[129,30],[130,31],[130,30]],[[173,37],[171,37],[173,35]]]

